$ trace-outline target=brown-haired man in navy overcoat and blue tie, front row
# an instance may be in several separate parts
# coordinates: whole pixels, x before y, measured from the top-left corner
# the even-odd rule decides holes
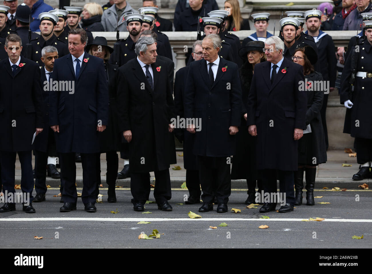
[[[55,60],[53,68],[53,81],[60,88],[49,93],[49,125],[57,132],[60,153],[64,201],[61,212],[76,210],[76,152],[80,152],[83,167],[84,210],[97,210],[96,154],[100,151],[98,135],[108,123],[109,91],[103,60],[84,51],[87,39],[83,29],[69,32],[70,54]]]

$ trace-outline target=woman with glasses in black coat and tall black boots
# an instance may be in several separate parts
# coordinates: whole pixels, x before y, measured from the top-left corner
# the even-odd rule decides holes
[[[318,60],[318,56],[307,43],[303,43],[292,57],[295,63],[304,67],[304,90],[307,92],[307,112],[306,130],[304,135],[298,140],[298,170],[295,176],[295,205],[302,204],[302,189],[304,188],[304,170],[306,180],[306,204],[314,205],[314,184],[316,167],[318,164],[327,161],[325,149],[325,137],[320,116],[320,109],[323,104],[324,89],[318,89],[317,83],[323,82],[320,73],[314,71],[313,64]],[[307,91],[306,91],[307,90]]]

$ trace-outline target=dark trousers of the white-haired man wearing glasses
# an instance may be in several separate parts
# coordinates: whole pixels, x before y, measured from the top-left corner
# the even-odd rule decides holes
[[[295,191],[293,185],[294,181],[294,172],[293,171],[284,171],[276,169],[264,169],[260,170],[262,174],[262,183],[263,190],[265,193],[277,193],[276,190],[276,178],[277,174],[279,177],[279,193],[285,193],[285,202],[287,204],[295,205]],[[283,194],[284,197],[284,194]],[[270,199],[270,202],[274,202]],[[278,202],[278,201],[277,201]]]

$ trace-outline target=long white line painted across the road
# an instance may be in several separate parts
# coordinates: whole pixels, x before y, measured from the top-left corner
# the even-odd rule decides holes
[[[138,222],[138,221],[301,221],[308,218],[83,218],[83,217],[54,217],[54,218],[0,218],[0,221],[112,221],[112,222]],[[372,223],[370,219],[324,219],[323,222],[352,222],[352,223]]]

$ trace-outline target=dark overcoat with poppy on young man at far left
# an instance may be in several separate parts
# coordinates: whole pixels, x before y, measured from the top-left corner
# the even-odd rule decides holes
[[[0,61],[0,151],[32,150],[36,127],[44,127],[39,66],[20,58],[24,65],[17,67],[14,77],[9,58]]]

